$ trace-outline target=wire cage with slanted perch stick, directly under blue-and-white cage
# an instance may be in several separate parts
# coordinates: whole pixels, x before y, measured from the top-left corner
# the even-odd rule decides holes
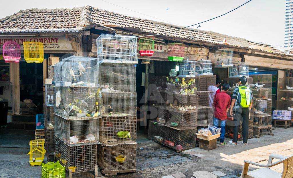
[[[99,84],[106,85],[103,92],[136,92],[134,65],[101,63]]]

